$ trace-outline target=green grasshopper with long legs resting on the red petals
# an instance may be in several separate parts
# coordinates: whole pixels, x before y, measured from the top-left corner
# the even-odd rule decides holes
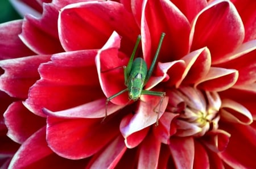
[[[104,119],[108,115],[107,107],[108,107],[108,103],[110,102],[110,100],[123,94],[126,91],[128,91],[129,100],[133,100],[133,101],[138,100],[141,97],[141,95],[160,96],[161,99],[160,99],[160,102],[158,103],[159,111],[154,110],[155,112],[158,113],[158,116],[159,116],[160,107],[162,105],[163,98],[164,98],[164,95],[166,95],[166,92],[143,90],[143,87],[147,84],[148,79],[152,75],[152,72],[153,72],[155,64],[156,64],[156,60],[157,60],[159,52],[160,52],[160,48],[163,43],[164,35],[165,35],[165,33],[162,33],[162,35],[160,37],[158,48],[156,49],[155,57],[151,63],[150,69],[147,69],[147,64],[143,60],[143,58],[138,57],[138,58],[135,58],[135,60],[134,60],[135,52],[138,48],[139,42],[141,41],[141,35],[138,36],[135,47],[133,49],[133,53],[131,54],[128,64],[127,64],[127,66],[123,66],[124,75],[125,75],[125,86],[127,86],[127,88],[125,88],[122,91],[119,91],[117,94],[114,94],[106,99],[106,109],[105,109]],[[103,119],[103,121],[104,121],[104,119]],[[156,119],[156,125],[158,125],[158,119],[159,119],[159,117],[157,117],[157,119]]]

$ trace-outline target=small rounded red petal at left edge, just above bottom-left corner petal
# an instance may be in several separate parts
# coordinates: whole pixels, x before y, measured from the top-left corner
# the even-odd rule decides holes
[[[22,102],[12,103],[3,116],[8,128],[7,136],[18,143],[23,143],[38,129],[46,125],[45,119],[28,111]]]

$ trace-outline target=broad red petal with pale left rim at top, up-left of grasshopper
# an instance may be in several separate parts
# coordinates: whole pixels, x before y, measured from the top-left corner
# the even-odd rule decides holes
[[[133,15],[121,3],[74,3],[60,11],[60,41],[67,51],[101,48],[114,30],[123,36],[124,44],[133,44],[139,34]]]

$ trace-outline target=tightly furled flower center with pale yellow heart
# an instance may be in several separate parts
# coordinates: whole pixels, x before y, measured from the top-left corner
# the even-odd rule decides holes
[[[176,136],[203,136],[209,130],[218,128],[221,99],[217,92],[200,91],[193,87],[179,87],[171,90],[168,109],[179,113],[175,121]]]

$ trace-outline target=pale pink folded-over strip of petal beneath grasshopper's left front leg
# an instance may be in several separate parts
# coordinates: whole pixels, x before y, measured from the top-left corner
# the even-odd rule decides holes
[[[74,108],[65,109],[63,111],[52,112],[44,108],[43,112],[47,116],[63,117],[65,119],[74,118],[100,118],[105,116],[106,108],[108,110],[108,115],[118,111],[122,107],[120,105],[114,105],[109,103],[108,107],[105,106],[106,99],[98,99],[93,102],[79,105]]]

